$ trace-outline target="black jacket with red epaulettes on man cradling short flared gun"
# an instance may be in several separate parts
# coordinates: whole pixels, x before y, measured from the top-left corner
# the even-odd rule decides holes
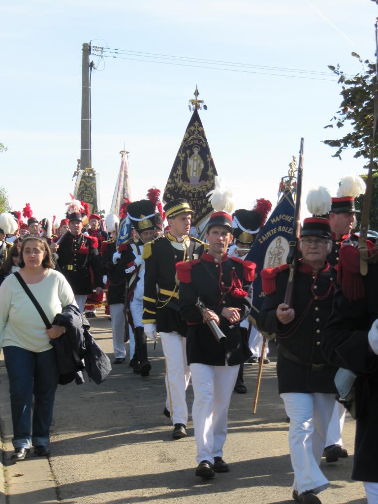
[[[239,324],[230,325],[221,312],[224,307],[240,308],[240,322],[248,316],[252,305],[251,281],[255,266],[250,261],[228,258],[227,254],[222,262],[217,262],[207,253],[188,265],[177,265],[180,313],[188,324],[188,364],[224,366],[227,361],[232,366],[250,357],[246,329],[240,328]],[[219,316],[219,329],[226,336],[221,342],[203,323],[203,317],[196,307],[198,297]]]

